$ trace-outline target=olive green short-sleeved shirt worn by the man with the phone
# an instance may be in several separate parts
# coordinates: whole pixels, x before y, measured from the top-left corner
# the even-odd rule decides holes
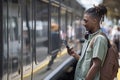
[[[85,80],[87,72],[90,68],[91,60],[93,58],[98,58],[102,61],[102,63],[104,62],[107,53],[108,42],[103,35],[99,34],[100,32],[102,32],[101,29],[93,34],[90,34],[88,40],[86,40],[83,44],[82,54],[76,66],[74,80]],[[94,41],[92,47],[91,40]],[[99,78],[100,72],[98,71],[93,80],[99,80]]]

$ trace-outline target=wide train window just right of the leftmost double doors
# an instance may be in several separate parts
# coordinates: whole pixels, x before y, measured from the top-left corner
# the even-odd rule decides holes
[[[36,59],[44,60],[48,55],[48,4],[36,2]]]

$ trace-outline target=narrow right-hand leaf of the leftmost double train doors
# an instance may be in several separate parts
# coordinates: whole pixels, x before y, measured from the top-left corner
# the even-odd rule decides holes
[[[20,0],[21,1],[21,0]],[[34,20],[33,20],[33,0],[22,0],[21,6],[21,26],[22,26],[22,54],[21,54],[21,79],[29,76],[32,79],[33,72],[33,40],[34,40]]]

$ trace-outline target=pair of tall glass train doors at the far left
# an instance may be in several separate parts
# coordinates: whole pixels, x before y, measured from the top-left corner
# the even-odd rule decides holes
[[[28,73],[32,75],[32,8],[32,0],[3,0],[2,80],[23,80]]]

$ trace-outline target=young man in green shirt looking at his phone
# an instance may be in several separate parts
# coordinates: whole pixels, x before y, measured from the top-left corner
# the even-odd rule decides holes
[[[100,80],[100,67],[104,62],[107,53],[107,39],[100,35],[100,23],[107,13],[103,5],[94,6],[85,11],[83,25],[89,32],[88,39],[85,41],[82,54],[79,56],[73,49],[69,49],[69,55],[78,59],[74,80]],[[94,44],[91,43],[94,39]]]

